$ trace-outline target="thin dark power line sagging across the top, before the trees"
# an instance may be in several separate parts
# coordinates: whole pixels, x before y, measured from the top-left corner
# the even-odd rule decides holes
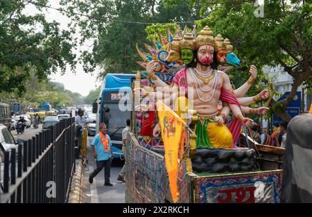
[[[32,3],[34,5],[37,5],[37,6],[42,6],[44,8],[50,8],[50,9],[53,9],[53,10],[58,10],[60,12],[65,12],[69,15],[79,15],[79,16],[82,16],[82,17],[87,17],[87,18],[90,18],[90,19],[99,19],[99,20],[103,20],[103,21],[107,21],[107,19],[103,18],[103,17],[94,17],[94,16],[90,16],[90,15],[85,15],[83,13],[80,13],[80,12],[70,12],[68,10],[63,10],[62,8],[54,8],[52,6],[46,6],[42,3],[37,3],[37,2],[33,2],[33,1],[30,1],[28,0],[27,1],[28,3]],[[125,20],[116,20],[116,19],[110,19],[110,21],[113,21],[113,22],[119,22],[119,23],[126,23],[126,24],[146,24],[146,25],[152,25],[152,24],[161,24],[161,25],[164,25],[164,24],[171,24],[171,22],[169,23],[149,23],[149,22],[139,22],[139,21],[125,21]],[[174,24],[190,24],[190,23],[193,23],[195,21],[198,21],[198,20],[192,20],[192,21],[180,21],[180,22],[174,22]]]

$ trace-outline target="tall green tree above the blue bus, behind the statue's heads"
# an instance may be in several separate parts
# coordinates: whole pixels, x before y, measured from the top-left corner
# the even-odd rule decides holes
[[[62,0],[69,11],[92,17],[72,15],[72,28],[80,27],[82,39],[92,40],[91,52],[82,53],[85,71],[103,67],[106,73],[133,73],[139,67],[135,44],[143,45],[146,26],[151,23],[171,23],[199,18],[199,10],[189,8],[189,1],[178,1],[173,8],[166,8],[164,1],[155,0]],[[129,23],[130,22],[130,23]]]

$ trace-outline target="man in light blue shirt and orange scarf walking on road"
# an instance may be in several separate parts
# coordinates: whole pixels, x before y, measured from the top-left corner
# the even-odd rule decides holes
[[[93,183],[94,177],[105,168],[105,186],[113,186],[110,183],[110,166],[112,165],[112,142],[110,136],[106,134],[105,123],[100,124],[100,132],[94,137],[91,147],[93,156],[96,159],[96,169],[89,176],[89,183]]]

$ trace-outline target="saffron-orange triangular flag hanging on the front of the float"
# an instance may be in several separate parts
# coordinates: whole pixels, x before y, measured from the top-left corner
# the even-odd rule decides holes
[[[173,202],[177,202],[179,198],[177,175],[183,155],[185,123],[180,116],[177,116],[177,114],[164,105],[162,101],[157,101],[157,112],[159,116],[159,123],[162,128],[165,164],[169,177],[171,196],[173,198]]]

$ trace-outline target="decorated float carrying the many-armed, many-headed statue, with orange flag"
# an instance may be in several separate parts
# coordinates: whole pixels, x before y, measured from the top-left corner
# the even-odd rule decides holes
[[[255,78],[251,76],[240,89],[243,92],[238,93],[226,90],[217,77],[222,78],[225,71],[240,64],[229,40],[221,35],[212,37],[207,26],[198,36],[195,28],[193,31],[185,28],[183,32],[177,28],[175,36],[168,30],[168,37],[159,33],[159,38],[160,42],[154,41],[155,46],[144,45],[148,53],[137,46],[144,60],[137,63],[145,70],[138,71],[131,80],[134,94],[132,130],[125,150],[128,170],[125,202],[280,202],[284,148],[258,144],[242,130],[250,121],[247,114],[261,115],[267,111],[242,103],[250,100],[243,95]],[[210,78],[197,79],[200,72],[193,72],[198,67],[194,59],[206,60],[200,59],[200,54],[193,54],[203,46],[214,47],[214,55],[219,58],[214,62],[207,58],[206,68],[215,63],[215,69],[211,68]],[[182,73],[188,79],[184,83]],[[191,78],[194,78],[195,94],[199,93],[194,100],[198,100],[198,105],[195,102],[194,107],[189,107],[190,94],[180,97],[181,92],[173,102],[156,97],[158,87],[169,92],[177,85],[190,89]],[[196,89],[211,86],[217,92],[219,83],[225,89],[220,90],[220,96],[205,92],[207,89],[201,92]],[[166,91],[160,92],[166,95]],[[223,92],[228,98],[239,100],[228,100]],[[205,98],[205,93],[211,101]],[[251,102],[264,98],[268,96],[261,92]],[[180,109],[180,104],[187,106]],[[199,105],[210,106],[217,112],[212,116],[203,114],[208,109],[202,112]],[[227,105],[232,111],[227,112]],[[235,110],[233,105],[240,110]]]

